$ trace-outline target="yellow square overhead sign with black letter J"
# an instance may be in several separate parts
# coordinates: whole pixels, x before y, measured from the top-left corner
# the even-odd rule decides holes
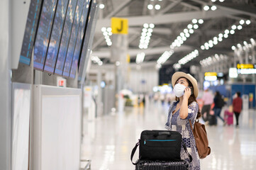
[[[128,34],[128,19],[111,18],[111,28],[113,34]]]

